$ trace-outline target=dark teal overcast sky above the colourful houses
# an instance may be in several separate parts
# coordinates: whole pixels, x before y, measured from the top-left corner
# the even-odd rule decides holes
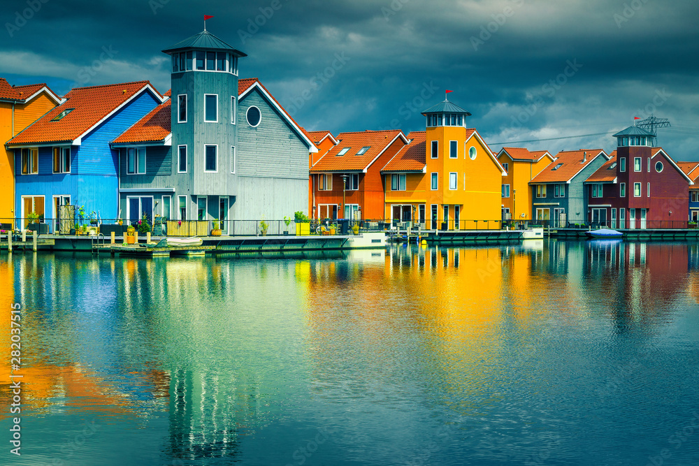
[[[240,78],[259,78],[309,131],[421,130],[419,112],[450,89],[494,150],[611,152],[610,134],[541,139],[652,112],[670,119],[658,130],[670,156],[699,160],[696,0],[4,0],[0,76],[61,95],[134,80],[166,92],[161,50],[205,14],[247,53]]]

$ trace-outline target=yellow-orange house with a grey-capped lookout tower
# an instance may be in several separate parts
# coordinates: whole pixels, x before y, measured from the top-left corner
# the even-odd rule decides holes
[[[426,131],[410,133],[415,149],[402,150],[382,170],[387,218],[415,219],[428,230],[499,229],[507,173],[480,134],[466,128],[470,113],[445,100],[422,115]]]

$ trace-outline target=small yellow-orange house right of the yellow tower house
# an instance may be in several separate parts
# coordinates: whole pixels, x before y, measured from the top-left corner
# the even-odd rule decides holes
[[[541,173],[554,157],[547,150],[530,152],[524,147],[503,147],[498,154],[507,175],[503,178],[503,220],[531,220],[529,182]]]

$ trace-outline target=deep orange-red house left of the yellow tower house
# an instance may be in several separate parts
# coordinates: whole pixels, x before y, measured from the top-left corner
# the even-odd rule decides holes
[[[381,168],[408,139],[400,130],[340,133],[310,168],[311,209],[317,219],[383,219]]]

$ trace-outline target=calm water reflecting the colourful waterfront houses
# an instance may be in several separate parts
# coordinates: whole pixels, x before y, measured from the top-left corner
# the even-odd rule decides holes
[[[0,464],[697,465],[699,245],[0,256]],[[9,351],[3,367],[9,373]]]

